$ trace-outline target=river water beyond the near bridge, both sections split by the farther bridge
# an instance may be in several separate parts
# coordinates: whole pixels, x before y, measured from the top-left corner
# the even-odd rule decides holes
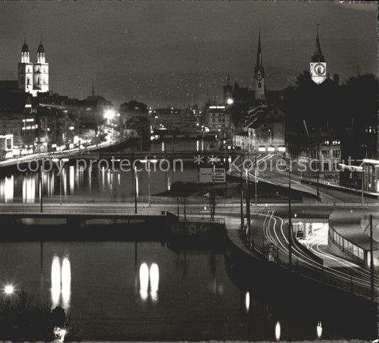
[[[184,139],[181,141],[154,141],[150,151],[218,151],[215,141]],[[131,150],[129,148],[128,150]],[[132,171],[122,171],[118,168],[107,169],[104,163],[95,163],[92,168],[82,170],[82,164],[65,163],[63,173],[58,168],[43,173],[43,196],[50,202],[71,201],[123,201],[134,195],[134,175]],[[169,190],[176,182],[197,182],[198,165],[186,163],[181,168],[176,163],[175,170],[171,165],[169,170],[159,170],[151,164],[148,173],[147,165],[139,165],[137,172],[137,189],[139,196],[148,196],[149,183],[151,195]],[[154,170],[155,169],[155,170]],[[39,202],[38,173],[15,173],[0,178],[0,202]],[[150,182],[149,182],[150,180]],[[75,200],[73,197],[75,196]]]

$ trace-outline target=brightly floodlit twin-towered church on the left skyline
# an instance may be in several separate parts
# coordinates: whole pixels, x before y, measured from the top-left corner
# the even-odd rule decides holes
[[[18,89],[31,93],[33,97],[38,92],[48,92],[48,63],[42,41],[38,46],[35,63],[30,61],[29,47],[25,40],[21,49],[21,62],[18,62]]]

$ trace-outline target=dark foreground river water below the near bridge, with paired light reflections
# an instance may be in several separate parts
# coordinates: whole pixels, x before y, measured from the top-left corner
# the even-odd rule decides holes
[[[351,337],[348,327],[336,329],[311,306],[289,315],[291,308],[240,290],[221,252],[176,252],[161,242],[2,242],[0,280],[64,307],[81,339],[275,341],[367,334],[358,328]]]

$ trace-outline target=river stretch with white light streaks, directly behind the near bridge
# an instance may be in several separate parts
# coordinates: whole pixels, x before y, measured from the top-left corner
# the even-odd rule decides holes
[[[62,174],[58,170],[43,173],[43,197],[46,202],[58,202],[62,195],[63,202],[102,200],[130,200],[134,195],[134,179],[132,171],[113,172],[104,168],[92,168],[80,172],[80,167],[66,165]],[[196,168],[184,168],[183,172],[176,170],[163,172],[151,171],[151,195],[164,192],[176,181],[197,182]],[[137,173],[138,195],[148,195],[149,175],[146,170]],[[72,197],[75,195],[75,197]],[[50,199],[49,199],[50,198]],[[24,173],[0,178],[0,202],[36,203],[40,201],[38,173]]]

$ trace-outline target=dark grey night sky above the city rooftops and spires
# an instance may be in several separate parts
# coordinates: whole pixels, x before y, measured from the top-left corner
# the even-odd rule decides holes
[[[328,72],[377,72],[375,3],[0,2],[0,79],[16,80],[24,33],[36,62],[42,35],[50,89],[151,107],[220,101],[225,76],[250,86],[261,29],[268,89],[309,69],[316,23]]]

